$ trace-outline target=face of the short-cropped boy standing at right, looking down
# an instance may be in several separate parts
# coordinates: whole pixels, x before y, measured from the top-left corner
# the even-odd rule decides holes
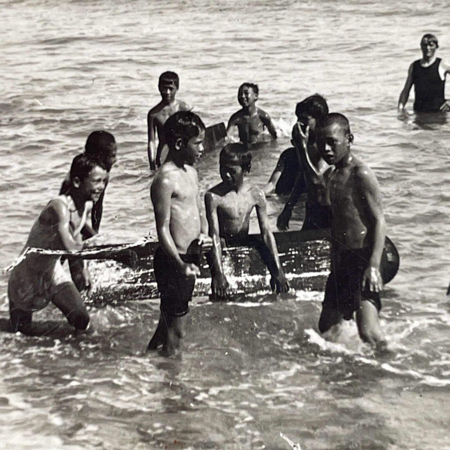
[[[331,123],[317,129],[317,148],[327,164],[336,164],[350,153],[350,136],[338,123]]]

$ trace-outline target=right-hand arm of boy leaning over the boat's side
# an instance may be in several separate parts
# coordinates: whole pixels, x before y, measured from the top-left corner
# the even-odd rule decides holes
[[[274,234],[270,231],[267,225],[267,202],[264,193],[259,188],[252,189],[252,198],[255,201],[256,213],[258,216],[259,228],[261,230],[261,236],[269,250],[270,256],[275,262],[275,267],[269,267],[272,275],[270,279],[270,286],[272,290],[276,289],[276,292],[288,292],[289,285],[286,277],[284,276],[283,269],[281,268],[280,259],[278,256],[278,248],[275,242]]]

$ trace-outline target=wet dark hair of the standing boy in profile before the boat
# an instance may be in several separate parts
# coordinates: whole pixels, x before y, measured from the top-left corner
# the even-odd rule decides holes
[[[163,132],[170,149],[175,148],[178,139],[186,146],[189,139],[197,137],[205,130],[205,124],[197,114],[191,111],[178,111],[166,120]]]

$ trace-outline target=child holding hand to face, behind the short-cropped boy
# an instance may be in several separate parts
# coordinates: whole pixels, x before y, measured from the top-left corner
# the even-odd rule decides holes
[[[295,113],[297,123],[292,130],[291,142],[296,149],[299,170],[288,201],[278,217],[277,226],[280,230],[289,228],[293,207],[300,195],[306,192],[306,214],[302,229],[328,229],[331,209],[325,193],[331,170],[320,156],[315,133],[316,123],[328,114],[328,105],[321,95],[315,94],[297,103]]]

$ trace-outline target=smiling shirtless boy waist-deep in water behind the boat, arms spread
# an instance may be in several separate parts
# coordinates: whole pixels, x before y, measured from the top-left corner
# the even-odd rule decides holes
[[[264,128],[269,130],[273,139],[277,138],[277,132],[269,114],[256,107],[258,95],[259,88],[256,84],[243,83],[239,86],[238,102],[242,109],[229,118],[226,128],[227,135],[229,135],[233,128],[237,126],[239,139],[246,147],[262,141]]]

